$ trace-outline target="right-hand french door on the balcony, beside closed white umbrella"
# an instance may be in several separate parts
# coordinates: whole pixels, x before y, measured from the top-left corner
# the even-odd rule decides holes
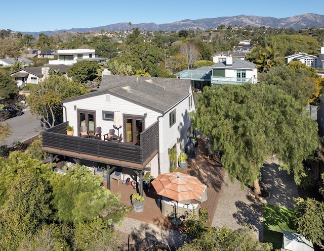
[[[143,116],[124,115],[124,138],[126,143],[139,145],[140,133],[144,129]]]

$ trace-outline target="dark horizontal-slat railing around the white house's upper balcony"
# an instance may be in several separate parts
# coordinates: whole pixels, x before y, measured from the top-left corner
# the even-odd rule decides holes
[[[66,135],[64,122],[43,132],[43,146],[78,154],[143,163],[158,149],[158,123],[140,133],[140,145]]]

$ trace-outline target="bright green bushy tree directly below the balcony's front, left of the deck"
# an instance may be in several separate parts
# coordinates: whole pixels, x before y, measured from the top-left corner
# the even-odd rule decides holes
[[[122,220],[129,209],[100,184],[101,178],[81,166],[66,175],[52,174],[52,205],[55,219],[63,223],[78,224],[103,218],[106,226]],[[73,187],[73,189],[71,189]]]

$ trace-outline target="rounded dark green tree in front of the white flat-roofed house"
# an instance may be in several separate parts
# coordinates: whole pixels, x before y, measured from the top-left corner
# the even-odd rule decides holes
[[[97,61],[82,60],[73,64],[66,73],[75,82],[93,81],[97,76],[97,70],[100,68]]]

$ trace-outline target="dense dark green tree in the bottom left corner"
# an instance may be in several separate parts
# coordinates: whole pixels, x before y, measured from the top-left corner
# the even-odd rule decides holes
[[[32,168],[17,171],[2,207],[0,240],[3,250],[16,250],[28,233],[50,219],[50,190]]]

